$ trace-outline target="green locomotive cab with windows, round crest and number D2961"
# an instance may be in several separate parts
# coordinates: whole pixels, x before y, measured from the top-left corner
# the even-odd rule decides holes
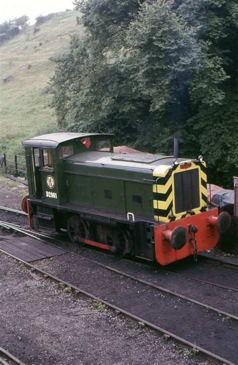
[[[67,182],[64,163],[69,156],[87,151],[113,152],[112,135],[93,133],[53,133],[23,141],[32,198],[64,204]]]

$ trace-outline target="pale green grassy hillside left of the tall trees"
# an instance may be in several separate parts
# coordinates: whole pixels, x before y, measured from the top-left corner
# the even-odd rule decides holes
[[[82,32],[77,16],[75,11],[57,13],[0,47],[0,152],[20,152],[23,138],[55,128],[48,106],[55,64],[49,57],[66,51],[70,35]]]

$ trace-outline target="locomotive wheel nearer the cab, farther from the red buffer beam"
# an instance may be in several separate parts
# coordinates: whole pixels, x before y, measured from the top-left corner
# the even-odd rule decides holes
[[[73,243],[80,243],[80,246],[83,246],[84,243],[80,242],[80,238],[84,240],[91,239],[89,224],[84,222],[79,216],[71,216],[68,221],[68,235]]]

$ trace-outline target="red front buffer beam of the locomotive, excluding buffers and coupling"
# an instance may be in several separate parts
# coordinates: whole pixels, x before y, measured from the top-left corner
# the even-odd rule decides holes
[[[216,245],[219,234],[216,226],[212,226],[208,223],[208,217],[218,216],[218,209],[210,209],[200,214],[195,214],[182,218],[181,220],[165,223],[155,227],[155,255],[156,260],[161,265],[167,265],[171,262],[181,260],[184,257],[193,254],[193,249],[187,241],[185,246],[180,250],[174,250],[169,241],[163,236],[166,230],[173,231],[178,226],[183,226],[187,229],[189,224],[196,225],[198,232],[195,234],[197,240],[197,252],[208,250]],[[192,237],[191,232],[188,232],[188,240]]]

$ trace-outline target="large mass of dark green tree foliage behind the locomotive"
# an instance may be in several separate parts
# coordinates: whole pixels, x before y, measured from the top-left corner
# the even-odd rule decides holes
[[[150,152],[203,154],[213,181],[238,168],[238,6],[231,0],[76,0],[83,38],[56,57],[64,130],[112,132]]]

